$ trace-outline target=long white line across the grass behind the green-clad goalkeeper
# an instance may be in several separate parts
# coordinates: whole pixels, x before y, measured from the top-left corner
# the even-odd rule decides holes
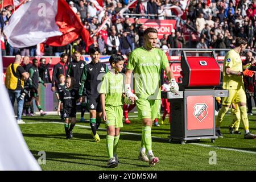
[[[20,124],[20,125],[26,125],[26,124],[40,124],[40,123],[56,123],[56,124],[64,125],[63,122],[55,122],[55,121],[53,121],[53,122],[27,122],[27,123]],[[90,126],[83,126],[83,125],[76,125],[76,126],[83,127],[83,128],[86,128],[86,129],[90,129]],[[98,128],[98,129],[100,129],[100,130],[102,130],[102,131],[106,131],[106,129],[102,129],[102,128]],[[122,133],[122,134],[139,135],[139,136],[141,136],[141,134],[137,134],[137,133],[123,132],[123,131],[121,131],[120,133]],[[163,138],[153,137],[153,136],[152,136],[152,138],[163,139]],[[163,139],[163,140],[166,140],[166,139]],[[217,146],[211,146],[211,145],[209,145],[209,144],[201,144],[201,143],[188,143],[188,144],[193,144],[193,145],[201,146],[201,147],[217,148],[217,149],[221,149],[221,150],[228,150],[228,151],[235,151],[235,152],[243,152],[243,153],[249,153],[249,154],[256,154],[256,152],[254,152],[254,151],[239,150],[239,149],[226,148],[226,147],[217,147]]]

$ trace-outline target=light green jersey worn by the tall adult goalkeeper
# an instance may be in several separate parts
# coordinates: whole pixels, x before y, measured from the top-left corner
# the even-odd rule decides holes
[[[143,47],[130,53],[126,69],[134,71],[134,90],[140,98],[156,100],[161,98],[160,75],[162,69],[170,67],[166,53],[153,48],[147,51]]]

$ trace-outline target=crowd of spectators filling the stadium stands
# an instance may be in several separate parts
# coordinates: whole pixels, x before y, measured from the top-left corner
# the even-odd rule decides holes
[[[158,47],[168,48],[221,48],[234,47],[237,37],[247,38],[248,49],[256,48],[256,2],[255,1],[174,1],[174,0],[139,0],[134,8],[127,9],[121,16],[119,13],[130,0],[104,1],[104,9],[98,10],[94,3],[88,0],[67,0],[72,10],[79,16],[85,28],[93,38],[92,47],[99,47],[102,55],[121,52],[127,54],[134,48],[142,46],[143,24],[139,18],[148,19],[176,19],[176,30],[164,35],[158,42]],[[176,16],[174,9],[168,6],[179,6],[184,12]],[[13,7],[6,7],[1,11],[1,29],[8,24]],[[129,14],[129,15],[127,15]],[[139,14],[139,15],[138,15]],[[108,16],[111,18],[100,30],[101,24]],[[134,19],[134,23],[131,23]],[[44,56],[60,56],[61,53],[81,54],[86,52],[86,45],[81,38],[69,46],[51,47],[44,45]],[[26,48],[11,47],[5,35],[1,35],[2,55],[36,56],[36,45]],[[218,55],[223,56],[224,51]],[[169,52],[172,55],[172,52]]]

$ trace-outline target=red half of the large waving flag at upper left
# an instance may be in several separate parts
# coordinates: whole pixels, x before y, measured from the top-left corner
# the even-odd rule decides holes
[[[89,31],[85,29],[78,16],[64,0],[58,1],[55,21],[63,35],[48,38],[46,44],[49,46],[65,46],[79,38],[79,35],[82,36],[87,47],[93,43]]]

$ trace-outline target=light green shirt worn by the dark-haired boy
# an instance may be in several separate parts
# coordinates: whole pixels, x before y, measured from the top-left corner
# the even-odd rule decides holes
[[[115,75],[108,72],[102,78],[100,92],[105,94],[106,106],[121,106],[123,105],[123,75],[118,73]]]

